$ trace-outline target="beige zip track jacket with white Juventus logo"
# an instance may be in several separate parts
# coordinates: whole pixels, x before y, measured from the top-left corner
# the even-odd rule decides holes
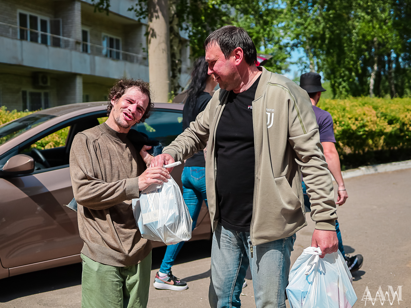
[[[264,67],[259,69],[262,74],[252,102],[255,146],[252,245],[289,237],[307,225],[301,175],[310,195],[311,218],[316,229],[333,231],[337,219],[333,184],[309,96],[288,78]],[[183,161],[204,149],[208,141],[205,182],[213,232],[219,220],[215,132],[228,94],[226,90],[217,90],[189,128],[163,149],[163,154]],[[238,168],[241,163],[236,162]]]

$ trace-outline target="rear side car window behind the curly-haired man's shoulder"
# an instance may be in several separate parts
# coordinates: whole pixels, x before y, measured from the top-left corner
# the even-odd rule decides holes
[[[156,110],[144,123],[137,124],[133,129],[159,140],[166,147],[182,133],[182,113],[177,110]]]

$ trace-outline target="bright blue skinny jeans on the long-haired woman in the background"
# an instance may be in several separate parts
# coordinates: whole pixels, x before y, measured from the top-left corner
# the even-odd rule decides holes
[[[196,228],[197,218],[199,218],[201,205],[203,200],[207,203],[207,195],[205,194],[205,168],[204,167],[184,167],[181,175],[182,182],[182,198],[188,207],[190,216],[193,220],[192,230]],[[164,274],[171,272],[171,267],[174,264],[180,249],[184,242],[175,245],[169,245],[166,249],[163,262],[160,266],[160,271]]]

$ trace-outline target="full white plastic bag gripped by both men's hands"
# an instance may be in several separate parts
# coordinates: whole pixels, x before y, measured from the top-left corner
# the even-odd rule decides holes
[[[165,165],[174,167],[181,162]],[[171,177],[162,185],[152,184],[132,200],[134,218],[141,236],[166,245],[191,239],[192,219],[182,198],[180,187]]]

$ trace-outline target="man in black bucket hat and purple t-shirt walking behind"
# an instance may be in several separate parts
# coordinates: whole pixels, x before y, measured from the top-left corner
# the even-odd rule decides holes
[[[324,156],[326,157],[326,162],[328,163],[328,170],[334,176],[335,182],[338,184],[338,197],[337,205],[343,205],[348,198],[348,194],[344,185],[344,179],[341,175],[341,167],[339,163],[339,155],[337,149],[335,148],[335,137],[334,137],[334,125],[332,122],[332,117],[330,113],[326,110],[322,110],[317,107],[317,103],[320,100],[321,92],[327,91],[321,85],[321,76],[318,73],[305,73],[300,77],[300,87],[307,91],[312,108],[315,113],[315,117],[318,123],[318,129],[320,131],[320,142],[324,149]],[[304,204],[306,211],[311,211],[309,196],[307,195],[307,188],[305,183],[302,182],[302,191],[304,193]],[[341,232],[339,230],[338,221],[335,220],[335,231],[337,232],[338,238],[338,249],[344,256],[344,259],[347,262],[347,265],[351,272],[358,271],[363,265],[363,256],[354,255],[350,257],[345,255],[344,246],[342,245]]]

